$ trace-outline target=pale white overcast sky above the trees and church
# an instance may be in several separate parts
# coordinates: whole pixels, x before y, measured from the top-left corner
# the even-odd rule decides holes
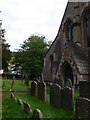
[[[54,40],[68,0],[1,0],[0,19],[12,51],[30,35]]]

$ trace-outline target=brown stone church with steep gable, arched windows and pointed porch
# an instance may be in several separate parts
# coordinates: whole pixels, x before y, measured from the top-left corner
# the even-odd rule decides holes
[[[43,67],[44,81],[90,81],[90,2],[68,2]]]

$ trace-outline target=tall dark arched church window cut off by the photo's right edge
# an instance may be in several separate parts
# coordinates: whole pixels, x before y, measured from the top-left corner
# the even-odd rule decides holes
[[[90,10],[85,16],[87,47],[90,47]]]

